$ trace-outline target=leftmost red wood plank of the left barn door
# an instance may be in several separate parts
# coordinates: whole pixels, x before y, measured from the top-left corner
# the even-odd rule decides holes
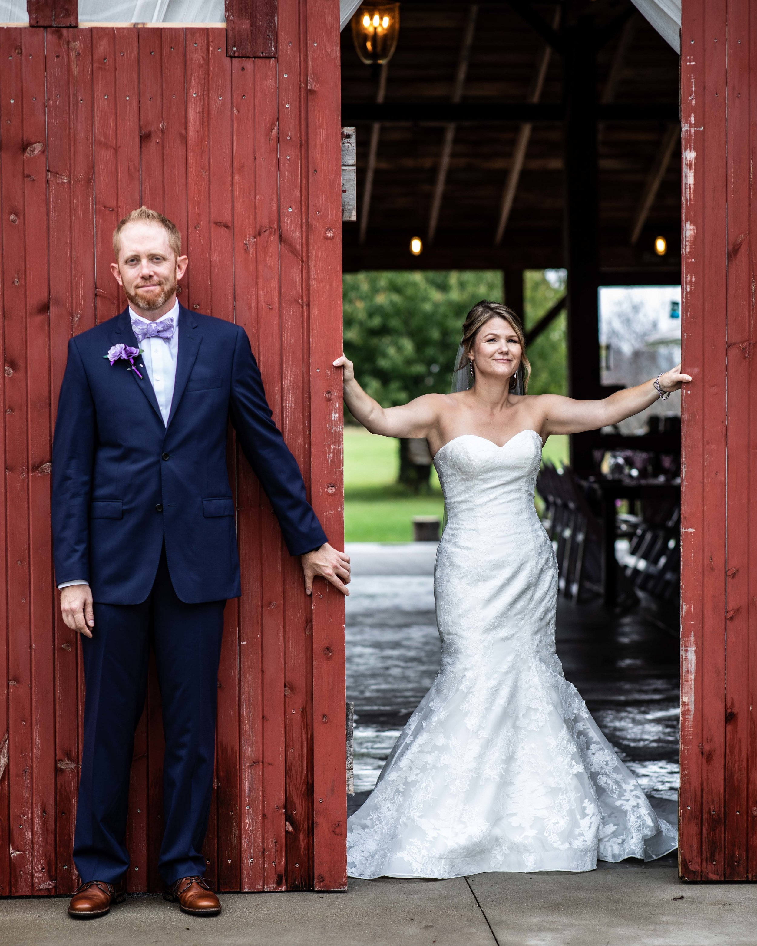
[[[20,30],[0,36],[12,95],[2,96],[3,285],[5,347],[6,542],[8,559],[8,706],[10,892],[33,889],[31,639],[28,584],[28,406],[26,403],[26,206],[24,201],[23,52]]]

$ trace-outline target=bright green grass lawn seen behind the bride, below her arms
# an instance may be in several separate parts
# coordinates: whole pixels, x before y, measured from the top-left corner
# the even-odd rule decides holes
[[[544,459],[562,464],[568,438],[550,437]],[[410,542],[414,516],[444,516],[444,499],[431,467],[428,493],[415,494],[396,482],[399,447],[361,427],[344,428],[344,538],[347,542]]]

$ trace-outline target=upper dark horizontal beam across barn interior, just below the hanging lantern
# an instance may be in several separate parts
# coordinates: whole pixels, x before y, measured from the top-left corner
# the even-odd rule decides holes
[[[595,103],[600,121],[677,121],[678,105],[659,102]],[[382,124],[500,125],[502,122],[551,122],[565,120],[561,102],[343,102],[345,125],[378,121]]]

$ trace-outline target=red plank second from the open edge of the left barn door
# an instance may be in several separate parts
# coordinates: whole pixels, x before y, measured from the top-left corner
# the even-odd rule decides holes
[[[281,221],[281,335],[287,358],[282,361],[281,426],[290,450],[310,484],[309,451],[309,323],[307,269],[304,246],[307,204],[307,166],[304,104],[306,83],[300,81],[302,44],[300,6],[284,0],[278,10],[279,53],[279,220]],[[305,181],[303,180],[305,178]],[[291,208],[291,209],[290,209]],[[287,759],[287,874],[288,890],[310,889],[312,870],[312,603],[303,593],[302,569],[284,559],[286,604],[286,759]]]

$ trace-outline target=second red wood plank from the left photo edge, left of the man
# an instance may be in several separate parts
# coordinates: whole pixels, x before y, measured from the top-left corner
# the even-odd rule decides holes
[[[55,893],[55,670],[50,540],[49,286],[44,120],[44,33],[24,30],[26,397],[28,400],[29,604],[31,618],[32,833],[35,893]],[[29,724],[27,724],[29,725]]]

